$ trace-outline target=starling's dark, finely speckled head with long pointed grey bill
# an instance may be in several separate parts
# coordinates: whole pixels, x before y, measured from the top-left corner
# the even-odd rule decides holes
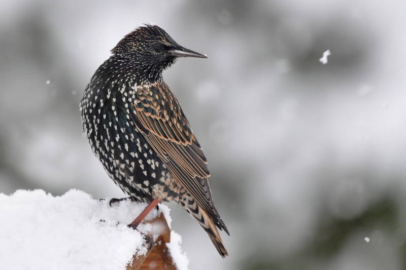
[[[130,32],[113,48],[112,53],[128,60],[133,72],[142,80],[158,81],[162,71],[179,57],[208,58],[180,46],[162,28],[146,24]]]

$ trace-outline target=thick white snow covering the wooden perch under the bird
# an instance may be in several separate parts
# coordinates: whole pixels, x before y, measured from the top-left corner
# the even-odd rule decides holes
[[[135,251],[147,251],[140,232],[127,227],[145,207],[131,201],[110,207],[109,199],[95,200],[75,189],[57,197],[40,189],[0,194],[0,269],[125,269]],[[160,212],[170,225],[165,205],[146,219]],[[187,269],[180,236],[171,236],[174,261]]]

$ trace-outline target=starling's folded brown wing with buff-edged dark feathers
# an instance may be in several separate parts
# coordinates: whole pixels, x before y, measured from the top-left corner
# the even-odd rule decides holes
[[[131,118],[189,194],[218,218],[207,178],[207,160],[182,109],[166,84],[138,88]]]

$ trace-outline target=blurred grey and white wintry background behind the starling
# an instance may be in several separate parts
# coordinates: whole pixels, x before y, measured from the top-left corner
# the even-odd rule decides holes
[[[164,73],[231,234],[221,259],[171,206],[191,269],[406,269],[405,14],[403,0],[2,0],[0,192],[123,197],[79,101],[152,22],[209,56]]]

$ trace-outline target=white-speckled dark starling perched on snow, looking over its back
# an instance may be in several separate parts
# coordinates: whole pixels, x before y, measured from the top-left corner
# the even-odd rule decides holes
[[[124,194],[149,204],[132,228],[158,203],[173,202],[205,229],[224,258],[228,253],[218,229],[229,232],[213,203],[206,156],[162,78],[180,57],[208,58],[154,24],[125,35],[85,88],[83,134]]]

